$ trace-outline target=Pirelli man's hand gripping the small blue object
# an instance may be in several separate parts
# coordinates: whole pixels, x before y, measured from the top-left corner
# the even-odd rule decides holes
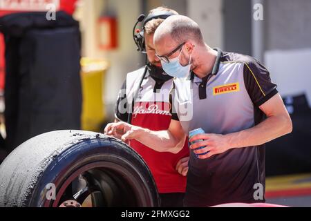
[[[212,155],[224,153],[225,151],[229,150],[229,142],[225,135],[220,134],[213,134],[213,133],[205,133],[205,134],[198,134],[191,137],[189,142],[194,142],[196,140],[203,140],[197,143],[191,144],[189,148],[196,149],[200,146],[205,146],[204,148],[194,150],[194,153],[206,153],[205,155],[198,155],[200,159],[206,159],[211,157]]]

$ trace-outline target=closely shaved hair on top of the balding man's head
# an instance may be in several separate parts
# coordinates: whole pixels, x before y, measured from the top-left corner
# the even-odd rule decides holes
[[[204,45],[202,32],[198,23],[183,15],[172,15],[165,19],[157,28],[154,41],[160,41],[162,37],[167,35],[178,44],[192,39],[197,44]]]

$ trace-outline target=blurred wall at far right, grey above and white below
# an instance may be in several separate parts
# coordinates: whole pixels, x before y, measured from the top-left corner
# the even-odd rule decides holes
[[[265,66],[282,96],[305,93],[311,108],[311,1],[265,0]]]

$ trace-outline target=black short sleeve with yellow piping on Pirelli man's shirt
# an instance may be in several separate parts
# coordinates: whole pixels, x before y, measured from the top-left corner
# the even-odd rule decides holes
[[[256,106],[261,106],[278,93],[272,83],[270,73],[263,64],[250,59],[244,64],[244,82],[249,97]]]

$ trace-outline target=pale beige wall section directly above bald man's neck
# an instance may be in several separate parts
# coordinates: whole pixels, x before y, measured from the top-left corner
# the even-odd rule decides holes
[[[205,42],[223,48],[223,2],[220,0],[188,0],[187,15],[202,30]]]

